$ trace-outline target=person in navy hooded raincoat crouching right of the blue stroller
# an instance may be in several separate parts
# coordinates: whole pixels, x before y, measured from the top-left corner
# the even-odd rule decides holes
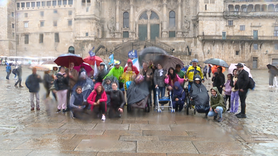
[[[174,88],[173,88],[173,98],[172,98],[173,109],[175,109],[176,112],[178,110],[179,112],[181,112],[185,100],[186,100],[186,92],[184,92],[183,88],[181,87],[181,84],[178,81],[176,81],[174,83]]]

